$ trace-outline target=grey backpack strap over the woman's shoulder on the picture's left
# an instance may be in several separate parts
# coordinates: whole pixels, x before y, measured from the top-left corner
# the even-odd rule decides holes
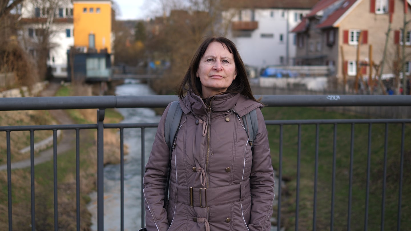
[[[182,110],[178,101],[171,102],[169,111],[167,112],[166,122],[164,125],[164,139],[170,150],[169,169],[167,173],[166,188],[164,190],[164,208],[167,206],[169,200],[169,186],[170,186],[170,172],[171,172],[171,154],[174,149],[175,135],[178,131],[178,125],[180,125]]]

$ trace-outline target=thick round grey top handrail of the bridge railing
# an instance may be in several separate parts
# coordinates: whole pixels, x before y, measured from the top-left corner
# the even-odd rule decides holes
[[[411,95],[256,95],[267,106],[411,106]],[[0,111],[165,107],[175,95],[0,98]]]

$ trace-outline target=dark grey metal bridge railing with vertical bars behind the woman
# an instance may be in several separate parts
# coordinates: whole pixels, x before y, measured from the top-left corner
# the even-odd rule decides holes
[[[260,97],[260,96],[256,96]],[[270,107],[277,106],[411,106],[411,96],[374,96],[374,95],[262,95],[262,102]],[[96,129],[97,130],[97,229],[99,231],[104,230],[104,181],[103,181],[103,168],[104,168],[104,147],[103,137],[104,129],[119,129],[120,130],[120,180],[121,180],[121,199],[120,199],[120,211],[121,221],[120,230],[124,230],[124,135],[123,130],[126,128],[141,128],[141,176],[144,175],[144,129],[148,127],[157,127],[156,123],[118,123],[118,124],[105,124],[104,113],[105,109],[111,108],[156,108],[166,107],[169,102],[178,99],[176,96],[85,96],[85,97],[28,97],[28,98],[0,98],[0,111],[21,111],[21,110],[51,110],[51,109],[97,109],[97,122],[95,124],[76,124],[76,125],[29,125],[29,126],[3,126],[0,127],[0,132],[6,132],[7,138],[7,193],[8,193],[8,220],[9,231],[13,230],[12,227],[12,163],[11,163],[11,147],[10,147],[10,133],[15,131],[30,131],[30,174],[31,174],[31,229],[36,230],[35,222],[35,178],[34,178],[34,166],[35,166],[35,151],[34,151],[34,131],[36,130],[51,130],[53,131],[53,165],[54,165],[54,230],[58,230],[58,197],[57,197],[57,130],[75,130],[76,131],[76,222],[77,230],[80,230],[80,148],[79,148],[79,131],[83,129]],[[312,230],[316,230],[317,221],[317,191],[318,189],[318,169],[319,169],[319,125],[333,125],[333,150],[332,150],[332,190],[331,190],[331,205],[330,205],[330,230],[334,229],[334,204],[335,204],[335,179],[336,179],[336,143],[337,143],[337,129],[338,124],[351,125],[351,151],[350,155],[350,168],[349,168],[349,195],[348,196],[348,215],[347,215],[347,230],[350,230],[351,226],[351,203],[352,203],[352,181],[353,181],[353,143],[354,143],[354,125],[355,124],[367,124],[369,126],[369,138],[367,145],[367,182],[366,182],[366,196],[365,196],[365,214],[364,214],[364,230],[367,230],[368,213],[369,213],[369,178],[371,169],[371,129],[373,124],[382,123],[388,127],[388,124],[400,124],[402,126],[401,133],[401,153],[400,153],[400,167],[399,171],[399,189],[398,189],[398,209],[397,209],[397,227],[391,227],[388,230],[397,229],[401,230],[401,211],[402,211],[402,187],[403,187],[403,173],[404,173],[404,140],[409,138],[405,137],[405,126],[411,123],[411,118],[407,119],[333,119],[333,120],[266,120],[266,125],[279,126],[279,156],[278,156],[278,168],[277,175],[279,179],[282,179],[283,174],[283,144],[284,144],[284,126],[297,125],[298,126],[298,147],[297,147],[297,165],[296,165],[296,206],[295,206],[295,230],[299,229],[299,211],[300,211],[300,164],[301,164],[301,127],[302,125],[315,125],[315,166],[314,166],[314,199],[313,199],[313,214],[312,214]],[[387,139],[388,133],[386,129],[385,133],[385,145],[384,156],[387,156]],[[383,192],[382,192],[382,205],[381,205],[381,230],[384,229],[384,199],[385,199],[385,187],[386,187],[386,164],[384,163],[384,175],[383,175]],[[282,222],[282,180],[277,182],[278,197],[277,197],[277,226],[281,227]],[[141,183],[143,189],[143,184]],[[144,205],[141,203],[141,210],[144,211]],[[144,213],[142,212],[141,224],[144,224]],[[136,227],[137,228],[137,227]]]

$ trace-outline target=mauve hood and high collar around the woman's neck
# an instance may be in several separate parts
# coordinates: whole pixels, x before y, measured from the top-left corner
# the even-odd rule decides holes
[[[192,112],[196,115],[206,114],[208,106],[212,111],[234,111],[238,116],[244,116],[256,108],[262,108],[263,104],[241,95],[240,93],[226,93],[215,95],[208,99],[202,99],[192,92],[180,99],[180,107],[185,114]]]

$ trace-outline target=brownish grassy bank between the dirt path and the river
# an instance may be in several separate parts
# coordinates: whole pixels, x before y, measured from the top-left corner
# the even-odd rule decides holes
[[[72,87],[62,87],[58,96],[73,95]],[[96,110],[67,110],[74,123],[95,123]],[[114,109],[107,109],[105,122],[120,122],[122,116]],[[16,123],[11,121],[11,125]],[[33,124],[33,123],[31,123]],[[47,124],[47,123],[46,123]],[[50,123],[48,123],[50,124]],[[37,132],[35,132],[37,135]],[[80,216],[81,230],[89,230],[91,215],[86,205],[88,194],[95,190],[96,179],[96,131],[80,131]],[[118,162],[120,141],[118,131],[106,129],[104,134],[104,161]],[[3,152],[2,152],[3,153]],[[13,155],[13,153],[12,153]],[[15,154],[16,155],[16,154]],[[53,161],[35,166],[35,222],[36,230],[54,229]],[[76,150],[61,153],[57,158],[58,226],[60,230],[76,230]],[[8,230],[7,171],[0,172],[0,231]],[[30,168],[12,171],[13,230],[31,230]]]

